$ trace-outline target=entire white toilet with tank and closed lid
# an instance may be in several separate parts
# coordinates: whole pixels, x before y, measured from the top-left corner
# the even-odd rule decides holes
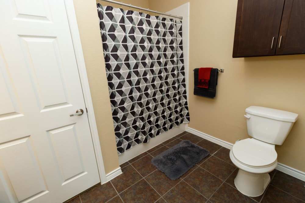
[[[251,106],[246,108],[247,138],[235,142],[231,161],[239,168],[235,186],[250,197],[264,193],[270,182],[269,172],[277,166],[275,145],[282,145],[298,114],[277,109]]]

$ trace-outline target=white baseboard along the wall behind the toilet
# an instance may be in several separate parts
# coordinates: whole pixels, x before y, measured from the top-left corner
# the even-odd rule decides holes
[[[211,142],[214,142],[218,145],[221,145],[225,148],[228,148],[228,149],[232,149],[233,147],[233,144],[230,143],[230,142],[226,142],[224,140],[221,140],[221,139],[218,139],[218,138],[215,138],[211,135],[208,135],[206,133],[203,133],[203,132],[200,132],[198,130],[195,130],[194,128],[187,128],[186,131],[194,134],[194,135],[197,135],[199,137],[202,137],[206,140],[209,140]],[[305,172],[303,171],[300,171],[300,170],[297,170],[297,169],[294,169],[290,166],[286,166],[285,164],[282,164],[282,163],[278,163],[278,166],[276,166],[275,168],[276,170],[279,170],[279,171],[282,171],[283,173],[286,173],[292,177],[295,177],[297,179],[300,179],[300,180],[303,180],[305,181]]]

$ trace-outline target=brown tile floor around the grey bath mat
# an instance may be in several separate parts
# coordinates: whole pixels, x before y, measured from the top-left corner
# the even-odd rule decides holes
[[[170,180],[151,164],[151,159],[188,139],[211,153],[178,180]],[[120,165],[123,174],[103,185],[95,185],[69,203],[87,202],[305,202],[305,182],[274,170],[263,195],[250,198],[234,185],[238,169],[230,150],[191,133],[181,133]]]

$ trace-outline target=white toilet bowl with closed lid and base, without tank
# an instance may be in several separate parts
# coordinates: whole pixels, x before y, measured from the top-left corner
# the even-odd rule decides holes
[[[268,173],[278,164],[274,145],[254,138],[240,140],[230,151],[230,158],[239,168],[234,180],[236,188],[250,197],[263,194],[270,182]]]

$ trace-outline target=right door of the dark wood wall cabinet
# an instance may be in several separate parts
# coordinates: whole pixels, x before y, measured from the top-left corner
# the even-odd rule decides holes
[[[286,0],[276,54],[305,54],[305,1]]]

